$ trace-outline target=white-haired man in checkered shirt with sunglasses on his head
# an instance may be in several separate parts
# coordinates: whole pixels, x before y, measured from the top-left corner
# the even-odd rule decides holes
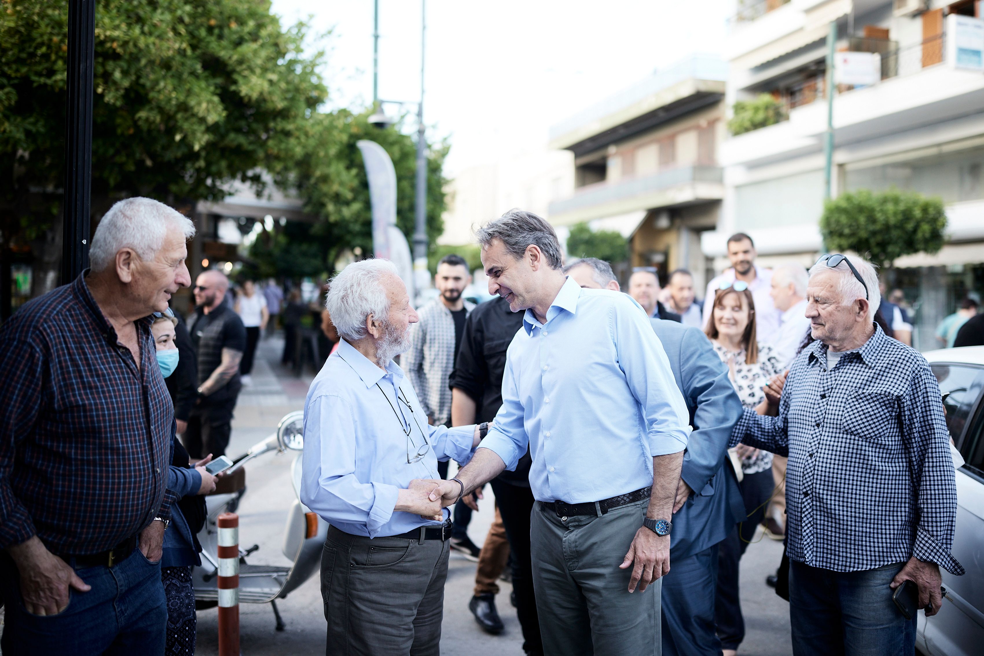
[[[746,410],[732,433],[789,456],[789,615],[796,656],[913,654],[916,617],[892,601],[903,580],[940,610],[956,485],[936,379],[915,350],[873,324],[874,268],[831,255],[810,269],[816,339],[793,362],[777,416]]]

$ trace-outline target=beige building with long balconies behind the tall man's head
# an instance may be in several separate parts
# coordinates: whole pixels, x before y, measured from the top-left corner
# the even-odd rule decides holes
[[[689,268],[703,288],[700,235],[717,225],[724,198],[726,79],[720,57],[695,55],[553,126],[550,148],[574,154],[574,191],[549,206],[558,232],[582,221],[619,230],[632,266],[663,279]]]

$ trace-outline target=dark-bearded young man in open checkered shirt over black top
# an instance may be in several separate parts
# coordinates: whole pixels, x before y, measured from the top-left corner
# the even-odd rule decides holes
[[[440,295],[418,311],[420,321],[410,328],[410,349],[403,354],[406,375],[433,426],[451,427],[451,388],[448,378],[455,369],[464,320],[474,304],[461,298],[471,282],[468,264],[461,256],[447,255],[437,265],[434,286]],[[448,478],[448,462],[438,462],[441,478]],[[468,538],[471,508],[455,507],[451,547],[472,561],[481,550]]]

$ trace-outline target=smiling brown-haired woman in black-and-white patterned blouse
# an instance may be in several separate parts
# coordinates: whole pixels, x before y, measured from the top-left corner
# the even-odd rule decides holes
[[[755,408],[766,397],[763,388],[769,385],[769,379],[781,373],[781,364],[772,348],[756,339],[755,301],[748,285],[741,280],[721,285],[714,294],[705,331],[714,352],[728,365],[731,384],[742,405]],[[738,563],[765,517],[773,489],[772,454],[745,445],[738,445],[736,452],[742,471],[738,487],[748,516],[718,548],[714,619],[724,656],[735,654],[745,637],[738,599]]]

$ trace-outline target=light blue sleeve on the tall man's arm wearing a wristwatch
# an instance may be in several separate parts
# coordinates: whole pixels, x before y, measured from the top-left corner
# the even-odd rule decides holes
[[[679,453],[687,448],[690,413],[662,342],[633,304],[615,306],[612,328],[619,365],[646,417],[649,454]]]

